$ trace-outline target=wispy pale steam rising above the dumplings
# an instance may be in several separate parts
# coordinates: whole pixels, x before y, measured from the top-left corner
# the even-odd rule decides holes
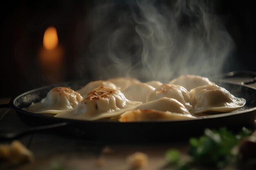
[[[95,79],[219,74],[233,41],[212,7],[202,0],[100,4],[89,16],[91,43],[79,63],[89,63]]]

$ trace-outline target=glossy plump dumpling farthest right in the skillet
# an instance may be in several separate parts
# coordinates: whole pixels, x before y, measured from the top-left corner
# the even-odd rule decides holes
[[[225,88],[206,85],[190,91],[191,113],[230,112],[245,105],[245,99],[234,97]]]

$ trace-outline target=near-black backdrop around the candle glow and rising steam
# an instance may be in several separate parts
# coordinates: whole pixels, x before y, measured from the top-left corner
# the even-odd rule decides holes
[[[119,10],[128,2],[116,0]],[[234,70],[256,71],[256,26],[253,1],[215,0],[215,12],[223,20],[236,44],[236,51],[222,72]],[[59,44],[65,50],[62,81],[92,78],[89,66],[83,76],[77,74],[76,60],[89,46],[87,20],[90,10],[103,1],[2,1],[0,40],[0,97],[14,97],[22,92],[53,82],[41,75],[36,56],[42,46],[47,27],[55,26]],[[159,1],[165,3],[165,1]],[[169,2],[166,1],[168,4]],[[238,62],[233,63],[233,59]],[[93,61],[93,59],[91,60]]]

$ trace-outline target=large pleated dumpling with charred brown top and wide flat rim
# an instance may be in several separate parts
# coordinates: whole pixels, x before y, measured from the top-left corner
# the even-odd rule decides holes
[[[126,99],[124,94],[119,90],[100,86],[88,93],[74,111],[60,113],[54,117],[97,120],[118,116],[127,110],[134,109],[139,104],[141,102],[132,102]]]

